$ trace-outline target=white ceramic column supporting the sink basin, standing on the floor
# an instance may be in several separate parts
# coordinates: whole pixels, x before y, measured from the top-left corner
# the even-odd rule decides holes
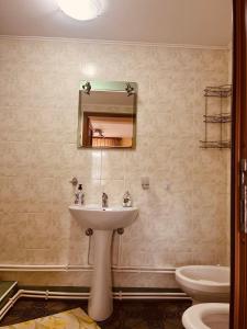
[[[88,314],[97,321],[105,320],[113,310],[111,245],[112,230],[93,230],[94,264]]]

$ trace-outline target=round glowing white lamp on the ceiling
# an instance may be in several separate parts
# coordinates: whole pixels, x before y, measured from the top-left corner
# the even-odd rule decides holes
[[[103,0],[57,0],[57,4],[68,16],[78,21],[89,21],[104,11]]]

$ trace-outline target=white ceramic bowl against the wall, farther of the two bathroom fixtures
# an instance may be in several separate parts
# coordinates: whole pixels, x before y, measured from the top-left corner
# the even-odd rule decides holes
[[[176,270],[176,280],[194,303],[229,300],[229,268],[227,266],[182,266]]]

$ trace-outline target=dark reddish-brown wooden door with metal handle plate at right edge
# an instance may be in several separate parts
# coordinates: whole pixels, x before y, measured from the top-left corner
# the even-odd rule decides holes
[[[231,328],[247,329],[247,0],[233,1],[233,23]]]

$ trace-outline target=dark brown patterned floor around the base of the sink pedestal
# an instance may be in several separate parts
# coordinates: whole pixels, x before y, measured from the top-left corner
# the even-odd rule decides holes
[[[182,329],[181,316],[190,305],[189,300],[114,300],[113,315],[99,322],[99,326],[102,329]],[[22,298],[9,310],[0,326],[10,326],[76,307],[87,311],[87,302]]]

